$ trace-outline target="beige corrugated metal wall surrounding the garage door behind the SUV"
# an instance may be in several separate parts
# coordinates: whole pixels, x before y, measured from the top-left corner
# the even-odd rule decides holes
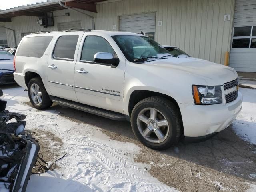
[[[119,16],[156,12],[156,41],[191,56],[224,63],[230,50],[235,0],[124,0],[97,5],[96,29],[114,30]],[[231,14],[230,21],[224,15]],[[117,29],[118,30],[118,27]]]

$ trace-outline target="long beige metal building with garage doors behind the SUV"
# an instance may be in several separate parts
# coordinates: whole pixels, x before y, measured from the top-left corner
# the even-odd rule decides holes
[[[45,28],[40,18],[46,12],[52,13],[53,26]],[[228,51],[230,66],[256,72],[256,0],[52,0],[2,10],[0,21],[14,30],[3,33],[0,27],[0,44],[4,39],[10,47],[16,46],[15,39],[18,44],[26,34],[38,31],[144,32],[160,44],[220,64]]]

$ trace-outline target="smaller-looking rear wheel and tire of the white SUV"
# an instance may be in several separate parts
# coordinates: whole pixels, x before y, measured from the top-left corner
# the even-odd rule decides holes
[[[28,97],[32,106],[36,109],[46,109],[52,105],[41,78],[32,78],[28,82]]]

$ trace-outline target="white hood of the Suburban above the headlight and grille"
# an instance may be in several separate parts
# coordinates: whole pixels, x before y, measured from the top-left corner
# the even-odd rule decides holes
[[[222,85],[238,78],[237,72],[231,67],[192,57],[171,57],[147,62],[147,64],[198,76],[203,78],[208,85]]]

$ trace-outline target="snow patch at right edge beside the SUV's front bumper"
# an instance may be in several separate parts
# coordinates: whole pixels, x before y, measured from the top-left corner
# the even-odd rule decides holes
[[[256,89],[240,88],[243,108],[232,124],[232,128],[244,140],[256,145]]]

